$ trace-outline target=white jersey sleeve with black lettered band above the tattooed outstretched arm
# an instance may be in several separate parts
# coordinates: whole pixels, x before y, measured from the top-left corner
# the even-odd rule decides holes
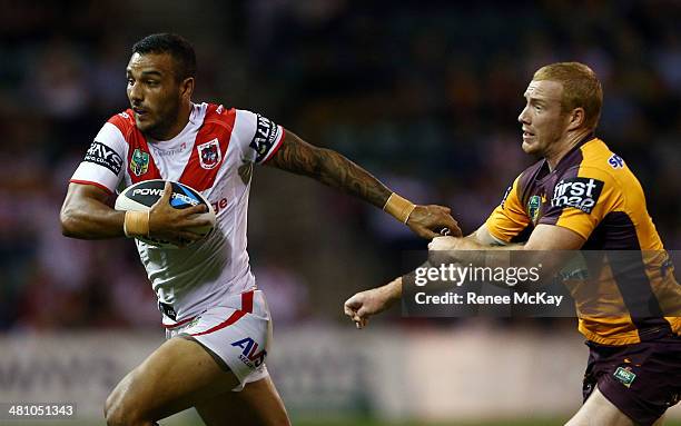
[[[258,165],[266,162],[282,146],[286,136],[284,128],[259,113],[246,110],[236,113],[236,142],[241,159]]]

